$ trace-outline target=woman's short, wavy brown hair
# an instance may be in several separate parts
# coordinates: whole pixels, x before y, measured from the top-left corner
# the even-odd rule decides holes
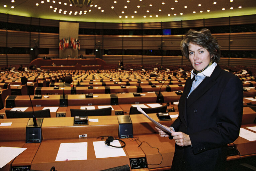
[[[182,55],[188,58],[188,46],[189,43],[197,44],[203,48],[205,48],[210,55],[212,55],[211,60],[218,63],[221,57],[221,46],[218,44],[218,40],[216,37],[211,35],[210,30],[204,28],[200,31],[189,30],[185,34],[185,38],[181,41],[180,47]]]

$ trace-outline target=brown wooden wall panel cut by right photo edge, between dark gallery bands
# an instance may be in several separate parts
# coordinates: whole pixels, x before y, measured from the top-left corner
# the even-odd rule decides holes
[[[230,50],[256,50],[256,33],[231,33]]]

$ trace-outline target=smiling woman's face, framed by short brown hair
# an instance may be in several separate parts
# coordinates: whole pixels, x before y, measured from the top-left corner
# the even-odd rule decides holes
[[[197,71],[204,69],[211,60],[211,55],[205,48],[193,43],[189,43],[188,57],[192,67]]]

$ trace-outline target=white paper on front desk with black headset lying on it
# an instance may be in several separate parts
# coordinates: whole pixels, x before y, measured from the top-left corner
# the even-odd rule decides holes
[[[118,140],[111,142],[111,145],[120,147],[121,144]],[[107,146],[104,141],[94,141],[93,142],[94,152],[96,158],[108,158],[108,157],[120,157],[126,156],[123,148],[115,148]]]

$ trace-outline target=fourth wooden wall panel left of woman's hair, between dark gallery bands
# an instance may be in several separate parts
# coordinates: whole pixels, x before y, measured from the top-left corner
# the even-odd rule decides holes
[[[104,36],[104,49],[122,49],[122,36]]]

